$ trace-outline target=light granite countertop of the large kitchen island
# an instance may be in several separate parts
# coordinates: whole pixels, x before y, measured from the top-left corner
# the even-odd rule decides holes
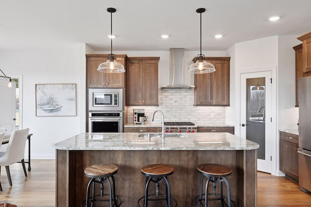
[[[139,137],[148,133],[81,133],[54,144],[60,150],[252,150],[259,144],[230,133],[178,133],[187,137]]]

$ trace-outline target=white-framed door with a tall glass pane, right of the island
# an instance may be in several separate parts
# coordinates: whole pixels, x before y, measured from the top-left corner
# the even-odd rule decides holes
[[[272,168],[272,72],[241,74],[241,137],[259,143],[257,169]]]

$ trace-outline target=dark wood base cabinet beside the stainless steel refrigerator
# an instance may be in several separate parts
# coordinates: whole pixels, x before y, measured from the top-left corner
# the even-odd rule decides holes
[[[280,171],[298,182],[298,135],[280,132]]]

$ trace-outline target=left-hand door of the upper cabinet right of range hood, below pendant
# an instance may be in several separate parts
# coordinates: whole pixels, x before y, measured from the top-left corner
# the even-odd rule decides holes
[[[194,75],[194,105],[208,106],[213,105],[211,97],[211,80],[212,74],[195,74]]]

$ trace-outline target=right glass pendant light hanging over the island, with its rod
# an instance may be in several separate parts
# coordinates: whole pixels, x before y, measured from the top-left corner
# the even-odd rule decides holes
[[[205,56],[202,54],[202,13],[205,12],[205,8],[199,8],[196,10],[200,13],[200,54],[197,56],[198,60],[191,64],[188,72],[193,74],[203,74],[215,72],[215,66],[211,63],[207,63],[204,59]]]

